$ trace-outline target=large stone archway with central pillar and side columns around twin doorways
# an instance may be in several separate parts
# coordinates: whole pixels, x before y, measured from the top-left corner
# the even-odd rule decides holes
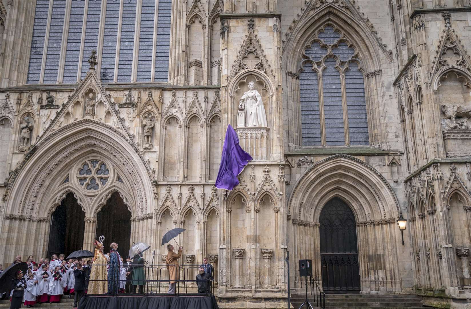
[[[65,182],[65,170],[90,155],[107,160],[122,175],[99,193],[87,196],[80,185]],[[4,199],[5,220],[1,227],[6,238],[0,240],[2,260],[15,254],[46,253],[51,212],[60,205],[67,192],[74,192],[85,212],[83,247],[91,249],[96,229],[96,214],[115,191],[122,193],[131,212],[131,239],[152,243],[152,234],[144,226],[153,218],[153,176],[134,142],[120,130],[92,119],[82,119],[47,135],[25,155],[8,179]],[[25,238],[23,231],[33,237]],[[16,243],[15,247],[8,244]]]

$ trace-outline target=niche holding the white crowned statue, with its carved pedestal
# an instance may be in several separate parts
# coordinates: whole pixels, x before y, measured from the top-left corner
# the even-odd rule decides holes
[[[273,97],[268,94],[262,80],[249,75],[238,82],[235,98],[239,99],[238,105],[234,105],[238,106],[235,131],[241,147],[250,153],[254,160],[267,160],[269,129],[264,102],[270,106]]]

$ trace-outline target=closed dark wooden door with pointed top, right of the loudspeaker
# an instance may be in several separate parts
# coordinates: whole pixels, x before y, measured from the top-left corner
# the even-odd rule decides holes
[[[359,292],[357,227],[352,210],[340,198],[333,198],[322,209],[319,222],[324,292]]]

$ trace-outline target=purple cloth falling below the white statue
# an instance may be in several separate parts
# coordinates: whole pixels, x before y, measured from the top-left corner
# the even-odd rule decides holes
[[[239,139],[234,128],[227,125],[226,137],[222,146],[221,164],[219,165],[218,178],[216,178],[216,188],[234,189],[239,184],[237,176],[242,173],[249,161],[252,161],[252,157],[239,146]]]

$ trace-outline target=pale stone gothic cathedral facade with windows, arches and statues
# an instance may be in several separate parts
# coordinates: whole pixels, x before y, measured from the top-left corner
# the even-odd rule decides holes
[[[156,264],[182,227],[223,308],[282,308],[288,251],[292,293],[312,259],[470,306],[469,0],[0,0],[0,34],[0,262],[104,234]]]

